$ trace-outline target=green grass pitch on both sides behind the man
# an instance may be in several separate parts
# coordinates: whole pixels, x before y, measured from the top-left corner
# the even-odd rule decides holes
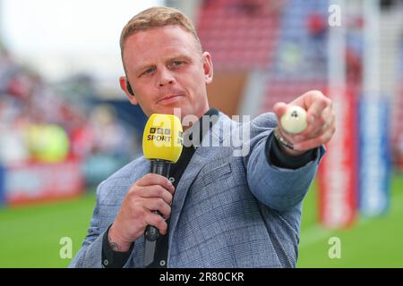
[[[403,267],[403,176],[392,180],[388,214],[359,217],[348,230],[329,231],[316,219],[316,189],[304,200],[297,267]],[[59,244],[71,238],[73,255],[90,223],[94,192],[39,206],[0,208],[0,267],[66,267]],[[331,237],[340,240],[340,258],[330,258]]]

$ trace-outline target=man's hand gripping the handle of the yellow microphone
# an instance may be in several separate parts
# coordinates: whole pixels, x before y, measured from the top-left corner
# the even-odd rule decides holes
[[[115,222],[109,229],[108,240],[115,251],[127,251],[147,225],[167,233],[166,219],[171,214],[174,186],[167,178],[149,173],[133,183],[126,194]],[[152,213],[159,211],[159,214]]]

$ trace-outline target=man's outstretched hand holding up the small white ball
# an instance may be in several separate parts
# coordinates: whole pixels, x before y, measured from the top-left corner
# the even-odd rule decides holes
[[[281,127],[280,118],[286,113],[289,105],[298,105],[307,112],[306,129],[298,134],[289,134]],[[305,151],[320,147],[330,141],[335,127],[335,114],[329,97],[325,97],[321,91],[310,90],[288,105],[279,102],[273,106],[274,113],[279,122],[279,133],[289,143],[294,145],[294,150],[281,146],[281,149],[288,155],[301,155]]]

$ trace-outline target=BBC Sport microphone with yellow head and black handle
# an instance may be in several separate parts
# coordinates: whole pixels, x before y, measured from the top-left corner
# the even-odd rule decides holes
[[[181,156],[183,141],[179,118],[172,114],[151,114],[142,135],[142,151],[144,157],[150,160],[150,172],[167,178],[170,165],[176,163]],[[157,211],[155,213],[159,214]],[[147,266],[154,261],[159,230],[148,225],[144,238],[144,265]]]

